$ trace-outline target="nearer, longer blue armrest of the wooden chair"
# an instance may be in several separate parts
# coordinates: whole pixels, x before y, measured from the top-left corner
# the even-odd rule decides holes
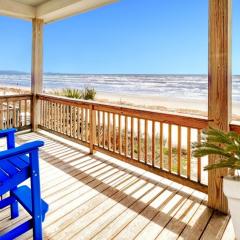
[[[34,142],[30,142],[30,143],[25,143],[16,148],[11,148],[11,149],[2,151],[2,152],[0,152],[0,160],[31,153],[33,150],[36,150],[36,149],[42,147],[43,145],[44,145],[43,141],[34,141]]]

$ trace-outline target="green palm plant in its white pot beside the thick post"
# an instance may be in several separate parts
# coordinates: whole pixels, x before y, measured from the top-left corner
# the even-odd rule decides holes
[[[201,143],[194,144],[193,156],[207,155],[218,155],[220,160],[204,170],[229,169],[229,175],[223,178],[223,192],[228,199],[236,238],[240,239],[240,135],[212,128],[204,131]]]

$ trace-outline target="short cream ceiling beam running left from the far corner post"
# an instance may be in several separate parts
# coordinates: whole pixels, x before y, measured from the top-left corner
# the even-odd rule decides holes
[[[31,20],[36,15],[36,9],[14,0],[0,0],[0,15]]]

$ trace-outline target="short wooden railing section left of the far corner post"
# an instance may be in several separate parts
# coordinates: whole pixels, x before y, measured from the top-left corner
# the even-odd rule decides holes
[[[32,95],[0,97],[0,129],[31,127]]]

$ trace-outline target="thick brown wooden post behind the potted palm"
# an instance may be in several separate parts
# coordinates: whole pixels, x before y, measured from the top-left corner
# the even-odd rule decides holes
[[[231,121],[231,14],[232,0],[209,0],[209,127],[229,130]],[[209,163],[219,161],[209,157]],[[208,205],[227,213],[227,200],[222,190],[222,177],[227,169],[208,173]]]

